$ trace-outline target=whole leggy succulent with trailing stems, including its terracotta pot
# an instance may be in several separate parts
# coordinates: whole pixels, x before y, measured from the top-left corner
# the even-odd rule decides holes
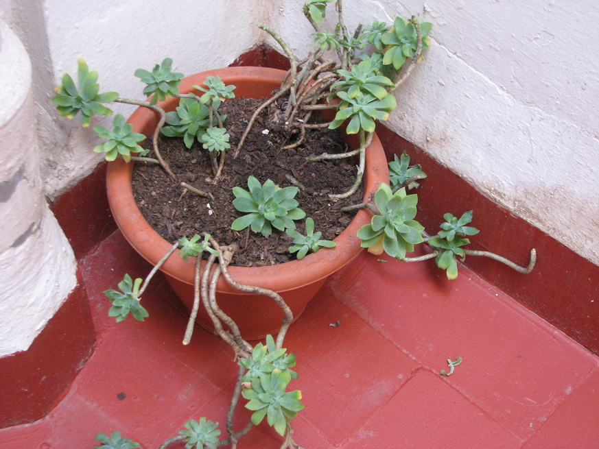
[[[135,75],[146,84],[143,92],[150,96],[148,101],[137,101],[122,99],[116,93],[99,93],[97,73],[90,72],[80,61],[78,86],[69,75],[64,75],[58,95],[54,97],[60,114],[73,118],[80,113],[84,126],[91,124],[94,114],[110,115],[111,111],[104,106],[110,101],[140,106],[128,123],[117,115],[113,130],[94,127],[95,132],[105,139],[95,151],[105,153],[110,161],[108,192],[115,219],[126,239],[154,265],[145,280],[133,280],[125,275],[119,282],[120,291],[104,292],[113,304],[109,315],[121,321],[131,314],[143,321],[148,312],[141,305],[141,296],[156,270],[162,269],[174,290],[183,298],[189,298],[187,305],[191,313],[183,343],[189,343],[193,324],[202,309],[204,315],[199,319],[200,324],[211,328],[235,352],[239,374],[226,417],[228,436],[220,439],[218,423],[201,417],[199,421],[185,423],[185,430],[165,441],[161,449],[181,440],[187,448],[215,448],[225,444],[236,447],[237,441],[264,418],[283,437],[281,448],[297,448],[291,420],[303,409],[303,404],[300,391],[289,391],[291,380],[297,377],[292,369],[296,361],[294,355],[283,348],[283,343],[293,319],[301,313],[306,300],[318,291],[326,276],[349,262],[360,247],[367,247],[374,254],[386,252],[407,261],[435,258],[437,265],[447,270],[448,278],[457,276],[458,256],[476,254],[462,248],[469,243],[467,236],[478,232],[467,226],[471,213],[465,213],[459,219],[446,214],[441,232],[435,236],[425,232],[415,220],[417,196],[408,194],[408,189],[414,188],[416,180],[424,178],[425,174],[420,167],[410,167],[409,157],[402,155],[390,163],[388,182],[386,160],[375,135],[376,121],[386,120],[395,108],[392,91],[406,81],[427,49],[427,35],[432,25],[419,23],[415,17],[407,21],[398,17],[392,25],[375,21],[349,33],[342,18],[342,1],[337,0],[338,24],[335,32],[329,32],[322,29],[320,23],[327,3],[331,2],[308,0],[305,3],[304,13],[314,27],[315,38],[314,50],[301,61],[276,32],[259,25],[287,54],[290,60],[288,71],[224,69],[184,78],[183,74],[174,73],[172,61],[165,59],[152,71],[136,71]],[[331,52],[336,53],[337,60],[327,59]],[[256,73],[262,75],[262,82],[250,79],[249,75]],[[268,97],[258,104],[245,129],[235,136],[228,131],[231,119],[222,113],[223,108],[233,104],[234,96]],[[261,112],[266,117],[259,117]],[[316,112],[324,115],[313,121]],[[257,130],[256,123],[260,121]],[[246,138],[252,130],[263,135],[276,130],[287,133],[287,141],[279,145],[277,151],[298,156],[295,153],[307,146],[305,142],[314,130],[337,128],[344,128],[345,134],[353,136],[353,141],[350,140],[352,149],[304,155],[300,165],[330,161],[339,164],[357,158],[357,167],[347,188],[324,193],[310,191],[296,167],[290,167],[285,173],[286,185],[270,178],[259,179],[250,173],[226,195],[235,209],[226,228],[238,234],[237,241],[216,239],[218,229],[202,229],[167,243],[143,219],[134,202],[131,161],[158,167],[174,186],[183,188],[181,198],[196,195],[204,205],[204,215],[228,216],[210,205],[218,202],[211,189],[227,178],[228,167],[234,165],[235,160],[244,160]],[[203,157],[209,173],[202,174],[203,185],[207,188],[198,189],[198,184],[194,186],[183,180],[178,171],[172,169],[169,159],[163,157],[160,133],[168,138],[179,136],[182,145],[188,149],[201,145],[207,150]],[[148,149],[139,145],[146,136],[152,136]],[[265,145],[269,146],[269,142]],[[236,143],[235,148],[231,143]],[[148,156],[150,150],[152,157]],[[121,158],[117,160],[117,156]],[[251,164],[250,155],[246,156],[249,162],[245,165],[250,166],[250,171],[257,170],[256,164]],[[347,169],[342,167],[342,171]],[[198,180],[198,177],[193,179]],[[360,194],[363,184],[364,193]],[[317,219],[316,212],[314,217],[305,212],[306,206],[296,199],[300,192],[314,202],[317,198],[325,198],[327,206],[338,208],[342,214],[357,211],[357,215],[340,235],[322,238],[317,230],[321,216]],[[129,232],[129,227],[135,228],[134,232]],[[141,236],[134,237],[136,232]],[[261,236],[283,236],[295,260],[279,267],[229,267],[250,232]],[[408,257],[418,243],[427,243],[432,252],[419,258]],[[499,256],[479,253],[509,263]],[[530,271],[532,265],[534,260],[526,269],[517,268]],[[296,278],[298,282],[290,287],[287,278]],[[290,293],[297,288],[300,289],[298,293]],[[241,299],[228,298],[235,291],[242,292]],[[249,302],[251,297],[262,304]],[[259,317],[267,315],[267,308],[274,310],[274,318],[260,323],[261,328],[253,328]],[[248,343],[264,334],[267,334],[264,342]],[[273,334],[277,334],[276,339]],[[236,430],[232,423],[239,396],[248,400],[245,406],[254,413],[245,428]],[[110,437],[99,434],[97,441],[102,443],[102,449],[139,447],[117,432]]]

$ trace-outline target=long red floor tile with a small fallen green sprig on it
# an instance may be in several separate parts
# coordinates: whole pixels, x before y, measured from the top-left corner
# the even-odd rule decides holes
[[[423,366],[438,372],[461,356],[449,383],[519,438],[530,437],[598,365],[597,357],[468,269],[454,281],[430,277],[424,263],[362,256],[331,285]]]

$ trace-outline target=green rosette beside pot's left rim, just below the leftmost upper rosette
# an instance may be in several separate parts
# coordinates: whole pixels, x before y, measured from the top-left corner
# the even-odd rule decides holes
[[[113,119],[113,130],[107,130],[102,126],[94,126],[93,130],[106,142],[97,145],[93,151],[106,153],[106,160],[115,160],[119,154],[125,162],[131,160],[132,153],[144,154],[146,151],[138,145],[145,139],[143,134],[133,132],[133,125],[125,123],[125,117],[121,114],[115,115]]]

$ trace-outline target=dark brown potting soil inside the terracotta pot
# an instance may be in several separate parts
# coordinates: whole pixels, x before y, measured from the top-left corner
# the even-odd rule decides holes
[[[208,151],[197,141],[187,149],[183,138],[160,136],[158,147],[172,171],[181,182],[187,182],[214,199],[200,197],[179,186],[157,165],[136,163],[133,173],[133,193],[143,217],[164,239],[174,243],[183,236],[209,232],[220,245],[237,243],[232,265],[252,267],[284,263],[295,258],[287,248],[290,236],[273,229],[269,237],[252,232],[231,230],[231,223],[244,215],[233,207],[233,187],[248,190],[248,176],[254,175],[261,183],[270,179],[281,187],[293,184],[285,175],[303,184],[296,195],[299,207],[312,217],[321,239],[332,240],[344,230],[355,213],[342,213],[340,208],[362,202],[362,186],[347,199],[331,199],[329,193],[344,193],[355,181],[357,158],[308,162],[306,156],[321,153],[349,151],[338,130],[319,128],[308,130],[305,141],[295,149],[282,149],[294,143],[297,135],[277,132],[272,123],[273,110],[266,108],[252,127],[237,158],[233,151],[262,100],[232,99],[224,101],[220,112],[226,114],[225,127],[231,135],[231,149],[226,154],[224,170],[213,184]],[[279,106],[283,100],[279,99]],[[278,127],[282,128],[282,127]],[[143,145],[151,149],[150,139]],[[148,154],[154,157],[152,151]],[[314,194],[322,193],[323,195]],[[296,221],[304,233],[304,220]],[[322,248],[320,251],[327,251]]]

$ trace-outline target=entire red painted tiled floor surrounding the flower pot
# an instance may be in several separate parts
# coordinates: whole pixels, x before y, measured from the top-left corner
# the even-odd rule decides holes
[[[287,335],[300,374],[292,388],[307,406],[294,420],[299,444],[599,447],[596,356],[467,270],[448,282],[434,264],[376,260],[363,254],[325,284]],[[161,275],[143,296],[145,322],[107,317],[102,291],[147,268],[118,232],[86,257],[97,348],[47,417],[0,429],[0,448],[91,449],[97,433],[114,430],[157,448],[201,416],[224,433],[232,354],[197,328],[189,346],[180,344],[187,318]],[[436,374],[457,356],[464,361],[452,376]],[[250,416],[243,404],[237,428]],[[239,448],[280,443],[261,424]]]

